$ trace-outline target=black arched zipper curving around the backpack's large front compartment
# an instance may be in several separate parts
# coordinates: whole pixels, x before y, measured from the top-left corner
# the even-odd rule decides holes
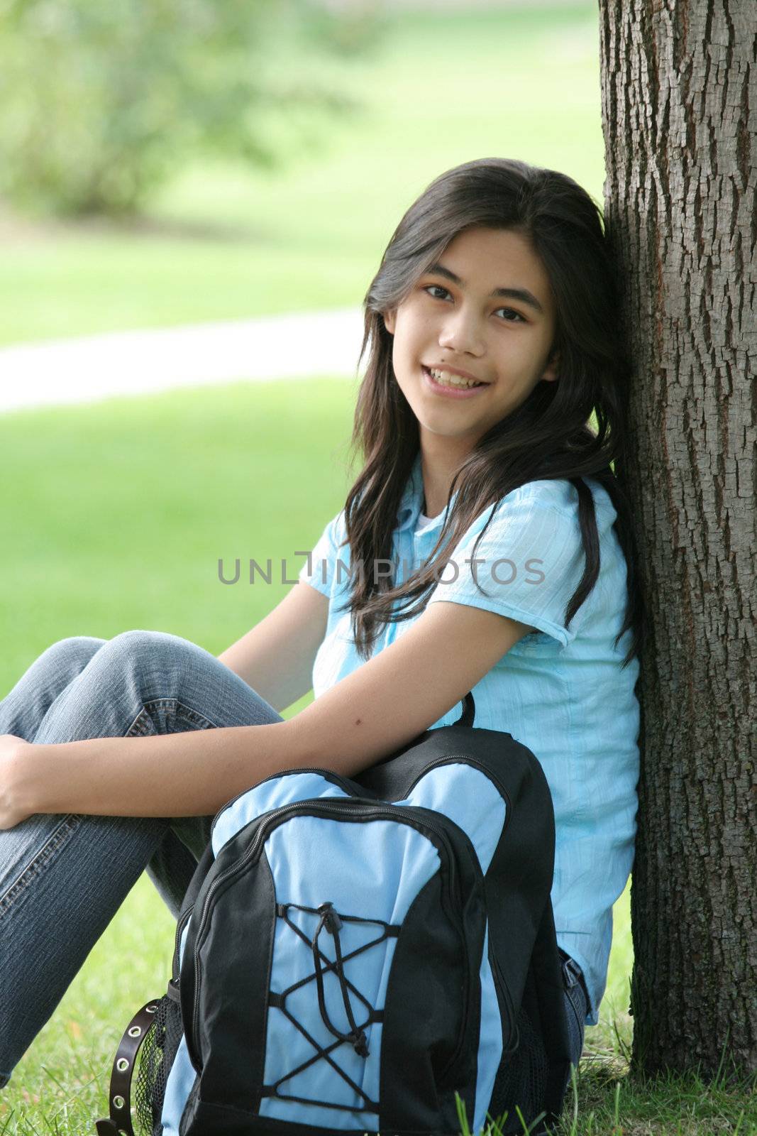
[[[355,797],[351,797],[350,801],[344,801],[342,805],[337,805],[334,802],[329,802],[328,804],[326,804],[326,803],[323,803],[323,801],[325,801],[323,797],[313,797],[313,799],[304,800],[304,801],[295,801],[292,804],[285,804],[285,805],[281,805],[280,809],[272,810],[268,815],[268,818],[267,818],[266,822],[263,825],[261,825],[260,828],[259,828],[259,830],[255,833],[255,835],[254,835],[254,837],[252,840],[252,843],[250,844],[250,847],[244,853],[244,855],[242,855],[239,858],[239,860],[237,860],[234,864],[232,864],[229,868],[227,868],[225,871],[222,871],[220,874],[220,876],[218,876],[218,878],[213,880],[213,883],[211,884],[210,888],[208,889],[208,894],[205,895],[205,899],[203,901],[202,911],[201,911],[200,919],[199,919],[199,922],[197,922],[197,933],[196,933],[196,936],[195,936],[194,947],[193,947],[193,963],[194,963],[193,969],[194,969],[194,975],[195,975],[195,982],[194,982],[194,991],[192,992],[192,1022],[191,1022],[191,1028],[185,1029],[185,1039],[186,1039],[187,1053],[190,1055],[190,1060],[192,1061],[192,1064],[194,1066],[195,1070],[197,1070],[197,1072],[202,1068],[202,1063],[200,1061],[200,1055],[199,1055],[199,1053],[196,1051],[196,1047],[195,1047],[195,1044],[194,1044],[195,1037],[197,1036],[199,1018],[200,1018],[200,1008],[199,1008],[199,999],[197,999],[197,987],[199,987],[197,976],[200,974],[200,967],[199,967],[199,961],[200,961],[200,941],[202,938],[202,933],[203,933],[203,930],[205,928],[205,921],[207,921],[208,914],[210,912],[210,905],[211,905],[212,896],[213,896],[215,892],[224,883],[226,883],[226,880],[230,879],[235,875],[241,874],[246,868],[246,866],[250,863],[250,861],[262,849],[262,845],[264,843],[264,840],[266,840],[266,836],[268,835],[269,829],[272,828],[272,827],[275,827],[276,822],[278,820],[280,820],[281,818],[284,818],[285,816],[287,816],[288,813],[293,813],[293,812],[297,812],[297,811],[308,811],[311,816],[313,816],[313,815],[314,816],[321,816],[321,815],[329,816],[330,815],[330,816],[337,816],[338,817],[338,816],[344,816],[345,813],[346,815],[352,813],[353,809],[354,809],[354,805],[361,803],[360,799],[355,799]],[[358,810],[358,815],[361,816],[361,817],[385,817],[385,818],[390,818],[390,819],[393,819],[395,821],[398,821],[401,824],[402,822],[409,824],[410,822],[410,816],[412,816],[417,811],[421,811],[421,810],[420,809],[417,810],[417,809],[414,809],[412,807],[404,807],[404,805],[394,805],[394,807],[392,807],[392,805],[387,804],[387,805],[384,805],[384,807],[381,807],[381,805],[377,807],[377,805],[371,804],[367,809],[363,808],[363,809]],[[397,816],[397,813],[399,813],[399,817]],[[446,818],[446,819],[448,819],[448,818]],[[454,820],[449,821],[449,824],[454,825]],[[444,828],[441,826],[437,825],[434,820],[428,819],[426,817],[426,815],[423,815],[421,818],[417,818],[417,824],[415,825],[411,825],[411,827],[417,828],[419,825],[424,826],[426,828],[428,828],[429,832],[435,833],[435,835],[437,835],[439,837],[439,840],[441,841],[441,843],[445,846],[445,851],[446,851],[446,854],[447,854],[447,862],[449,864],[448,897],[449,897],[449,901],[451,901],[452,913],[454,914],[454,910],[455,910],[455,896],[453,894],[453,877],[456,878],[456,876],[455,876],[455,858],[454,858],[454,852],[453,852],[453,849],[452,849],[452,844],[449,842],[449,837],[447,836],[446,832],[444,830]],[[462,832],[462,829],[461,829],[461,832]],[[468,840],[466,834],[463,833],[463,835]],[[477,863],[477,867],[478,867],[478,871],[480,872],[481,871],[481,867],[478,863],[478,857],[476,857],[476,863]],[[469,963],[469,957],[468,957],[468,943],[466,943],[465,936],[463,934],[460,935],[460,939],[461,939],[461,943],[462,943],[462,946],[463,946],[463,960],[464,960],[465,974],[468,974],[469,966],[470,966],[470,963]],[[462,1016],[462,1018],[463,1018],[463,1025],[461,1027],[460,1036],[457,1038],[457,1045],[455,1047],[453,1056],[451,1058],[449,1062],[447,1063],[447,1066],[445,1068],[445,1072],[452,1067],[453,1062],[460,1055],[460,1050],[461,1050],[462,1042],[463,1042],[463,1036],[464,1036],[465,1019],[468,1017],[468,985],[469,984],[466,983],[465,984],[465,1003],[464,1003],[463,1016]]]

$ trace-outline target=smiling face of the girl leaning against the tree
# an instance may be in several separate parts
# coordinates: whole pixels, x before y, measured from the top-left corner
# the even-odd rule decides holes
[[[527,237],[511,229],[460,233],[384,323],[423,450],[446,444],[463,457],[537,383],[557,378],[549,279]],[[451,387],[451,373],[482,385]]]

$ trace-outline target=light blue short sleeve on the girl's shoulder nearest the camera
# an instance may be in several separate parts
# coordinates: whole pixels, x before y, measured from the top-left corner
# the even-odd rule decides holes
[[[544,485],[531,482],[513,490],[477,518],[454,549],[429,603],[446,600],[496,611],[536,627],[561,648],[575,637],[581,609],[570,628],[564,617],[584,566],[578,496],[570,501],[555,486],[540,490]]]

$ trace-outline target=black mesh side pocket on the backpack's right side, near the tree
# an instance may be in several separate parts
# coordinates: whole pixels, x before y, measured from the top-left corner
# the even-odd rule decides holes
[[[518,1047],[512,1053],[503,1054],[489,1105],[495,1120],[507,1113],[502,1125],[503,1136],[523,1131],[515,1105],[521,1110],[525,1124],[532,1124],[544,1109],[547,1087],[547,1053],[523,1003],[518,1011],[515,1026]]]

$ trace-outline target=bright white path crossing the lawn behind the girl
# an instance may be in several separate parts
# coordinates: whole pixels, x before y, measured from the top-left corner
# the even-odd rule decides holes
[[[355,378],[362,337],[350,308],[0,348],[0,412],[234,379]]]

